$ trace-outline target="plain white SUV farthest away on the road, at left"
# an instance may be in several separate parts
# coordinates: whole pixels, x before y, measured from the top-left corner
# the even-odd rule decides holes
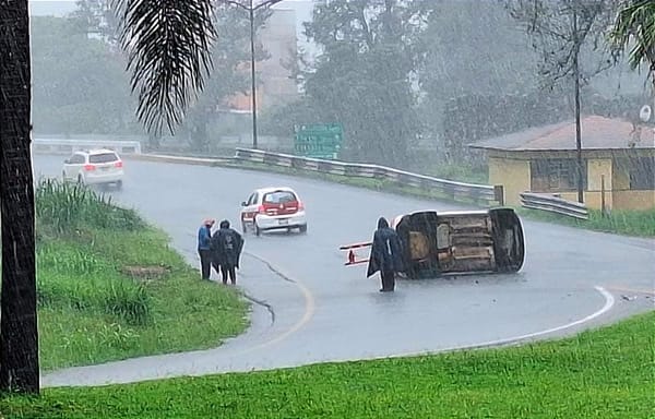
[[[112,149],[99,148],[75,152],[63,161],[61,172],[64,181],[83,184],[109,184],[122,187],[123,163]]]

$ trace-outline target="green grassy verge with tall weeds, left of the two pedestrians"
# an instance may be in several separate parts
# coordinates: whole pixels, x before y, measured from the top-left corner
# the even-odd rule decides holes
[[[43,369],[216,347],[246,328],[238,291],[202,282],[133,211],[52,181],[36,210]]]

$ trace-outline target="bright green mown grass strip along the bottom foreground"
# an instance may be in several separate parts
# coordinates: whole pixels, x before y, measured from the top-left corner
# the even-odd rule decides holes
[[[575,337],[5,396],[5,418],[654,418],[655,312]]]

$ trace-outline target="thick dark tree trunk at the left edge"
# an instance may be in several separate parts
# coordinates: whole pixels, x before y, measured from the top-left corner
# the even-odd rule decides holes
[[[38,393],[27,0],[0,0],[0,391]]]

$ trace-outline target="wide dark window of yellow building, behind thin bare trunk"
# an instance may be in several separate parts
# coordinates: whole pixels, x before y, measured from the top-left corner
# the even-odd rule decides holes
[[[586,173],[586,160],[583,160]],[[565,192],[577,190],[577,160],[574,158],[539,158],[531,161],[533,192]],[[583,177],[586,189],[586,176]]]

